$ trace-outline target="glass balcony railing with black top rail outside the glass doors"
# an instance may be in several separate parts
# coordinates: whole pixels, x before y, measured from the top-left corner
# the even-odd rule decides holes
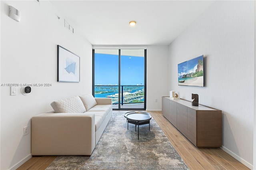
[[[120,94],[118,94],[118,85],[95,85],[95,97],[110,97],[112,103],[118,104],[134,104],[144,103],[144,85],[121,85]]]

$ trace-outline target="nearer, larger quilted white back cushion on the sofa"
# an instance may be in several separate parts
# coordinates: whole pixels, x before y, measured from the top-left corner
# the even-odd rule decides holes
[[[78,96],[57,100],[51,103],[55,113],[84,113],[86,109]]]

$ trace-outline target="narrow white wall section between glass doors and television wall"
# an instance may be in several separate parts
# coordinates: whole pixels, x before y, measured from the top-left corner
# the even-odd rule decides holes
[[[168,75],[168,46],[147,46],[147,111],[161,111],[162,96],[169,96]]]

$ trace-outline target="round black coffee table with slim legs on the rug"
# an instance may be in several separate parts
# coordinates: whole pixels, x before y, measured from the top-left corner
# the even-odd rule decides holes
[[[132,123],[135,125],[135,131],[136,131],[136,126],[138,125],[138,139],[139,139],[139,125],[148,124],[149,130],[150,130],[150,119],[152,117],[149,113],[142,112],[142,111],[132,111],[132,112],[125,113],[124,117],[126,118],[126,121],[127,121],[127,129],[129,129],[128,127],[129,123]]]

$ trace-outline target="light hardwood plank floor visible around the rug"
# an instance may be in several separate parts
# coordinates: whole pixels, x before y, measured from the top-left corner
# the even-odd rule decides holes
[[[124,111],[113,111],[123,113]],[[150,112],[190,170],[249,170],[220,148],[196,148],[162,112]],[[17,170],[44,170],[57,156],[32,157]]]

